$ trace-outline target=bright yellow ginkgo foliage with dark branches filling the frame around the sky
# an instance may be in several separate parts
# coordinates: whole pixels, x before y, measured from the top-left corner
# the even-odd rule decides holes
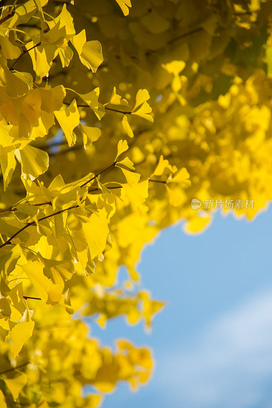
[[[84,321],[150,329],[164,302],[141,287],[144,245],[272,198],[272,2],[132,3],[0,3],[4,408],[94,408],[145,384],[152,351],[111,350]]]

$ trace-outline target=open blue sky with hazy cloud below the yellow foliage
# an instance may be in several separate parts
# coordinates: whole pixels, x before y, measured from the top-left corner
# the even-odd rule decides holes
[[[91,329],[111,346],[151,346],[156,369],[138,393],[120,385],[103,408],[272,407],[271,225],[271,207],[251,222],[217,212],[201,235],[179,224],[146,246],[142,286],[168,303],[152,333],[122,319]]]

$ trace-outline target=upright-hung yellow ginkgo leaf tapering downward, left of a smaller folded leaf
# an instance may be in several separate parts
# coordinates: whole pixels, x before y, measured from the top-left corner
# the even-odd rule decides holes
[[[79,125],[80,119],[75,99],[68,106],[68,108],[61,111],[55,111],[54,114],[63,130],[68,145],[73,146],[76,140],[73,130]]]

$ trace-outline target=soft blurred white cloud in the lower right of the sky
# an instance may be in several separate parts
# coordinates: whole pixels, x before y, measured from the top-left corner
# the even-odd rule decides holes
[[[271,408],[272,289],[166,353],[156,371],[153,384],[173,408]]]

